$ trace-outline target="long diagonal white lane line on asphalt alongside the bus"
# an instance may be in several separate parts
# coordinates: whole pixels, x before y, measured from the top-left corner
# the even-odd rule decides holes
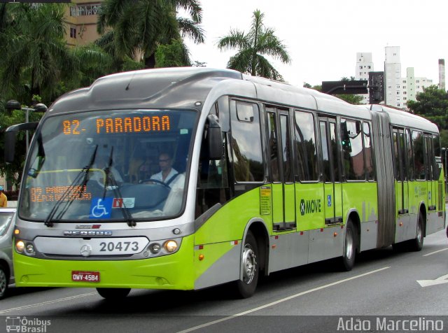
[[[354,280],[355,278],[362,278],[363,276],[374,274],[374,273],[377,273],[379,271],[384,271],[384,269],[388,269],[388,268],[391,268],[391,267],[383,267],[383,268],[380,268],[380,269],[375,269],[374,271],[368,271],[367,273],[356,275],[356,276],[352,276],[351,278],[344,278],[343,280],[339,280],[339,281],[336,281],[336,282],[328,283],[328,285],[321,285],[321,287],[317,287],[317,288],[313,288],[313,289],[310,289],[310,290],[306,290],[304,292],[299,292],[298,294],[291,295],[291,296],[279,299],[278,301],[271,302],[269,304],[265,304],[265,305],[262,305],[262,306],[258,306],[257,308],[250,309],[250,310],[247,310],[247,311],[244,311],[244,312],[240,312],[240,313],[237,313],[237,314],[232,315],[232,316],[228,316],[228,317],[225,317],[225,318],[214,320],[214,321],[211,321],[209,323],[204,323],[202,325],[197,325],[195,327],[190,327],[187,330],[179,331],[177,333],[188,333],[188,332],[193,332],[195,330],[200,330],[201,328],[208,327],[208,326],[211,326],[211,325],[215,325],[215,324],[218,324],[218,323],[222,323],[223,321],[230,320],[230,319],[233,319],[235,317],[244,316],[244,315],[247,315],[248,313],[253,313],[253,312],[258,311],[258,310],[269,308],[269,306],[274,306],[276,304],[289,301],[290,299],[294,299],[296,297],[300,297],[302,295],[309,294],[310,292],[315,292],[317,290],[322,290],[322,289],[325,289],[325,288],[328,288],[328,287],[332,287],[333,285],[339,285],[339,283],[344,283],[346,281],[351,281],[351,280]]]

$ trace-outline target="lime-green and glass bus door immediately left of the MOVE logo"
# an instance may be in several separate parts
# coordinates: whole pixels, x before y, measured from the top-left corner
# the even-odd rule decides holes
[[[272,181],[272,229],[295,225],[295,185],[288,110],[266,108],[269,174]]]

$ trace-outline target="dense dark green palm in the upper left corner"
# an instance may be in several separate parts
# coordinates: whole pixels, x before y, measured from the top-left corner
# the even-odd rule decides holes
[[[9,5],[9,6],[8,6]],[[63,71],[73,69],[66,46],[66,4],[6,3],[1,6],[0,41],[3,45],[1,90],[31,103],[34,94],[51,100]]]

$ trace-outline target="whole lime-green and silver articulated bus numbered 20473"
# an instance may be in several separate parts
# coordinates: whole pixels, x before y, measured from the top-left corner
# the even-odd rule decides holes
[[[250,297],[260,274],[330,258],[350,270],[360,251],[421,250],[445,227],[433,123],[237,71],[99,78],[8,128],[7,160],[25,129],[19,287],[118,298],[232,283]]]

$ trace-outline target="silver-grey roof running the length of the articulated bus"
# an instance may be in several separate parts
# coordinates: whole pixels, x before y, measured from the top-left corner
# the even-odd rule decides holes
[[[228,80],[235,85],[224,82]],[[220,96],[220,93],[230,94],[362,119],[372,118],[370,110],[384,111],[390,116],[392,124],[438,132],[433,123],[405,111],[386,106],[353,105],[316,90],[248,76],[232,69],[205,67],[144,69],[104,76],[95,80],[90,87],[62,95],[50,106],[48,114],[123,108],[198,108],[195,103],[204,102],[212,90],[214,97]]]

